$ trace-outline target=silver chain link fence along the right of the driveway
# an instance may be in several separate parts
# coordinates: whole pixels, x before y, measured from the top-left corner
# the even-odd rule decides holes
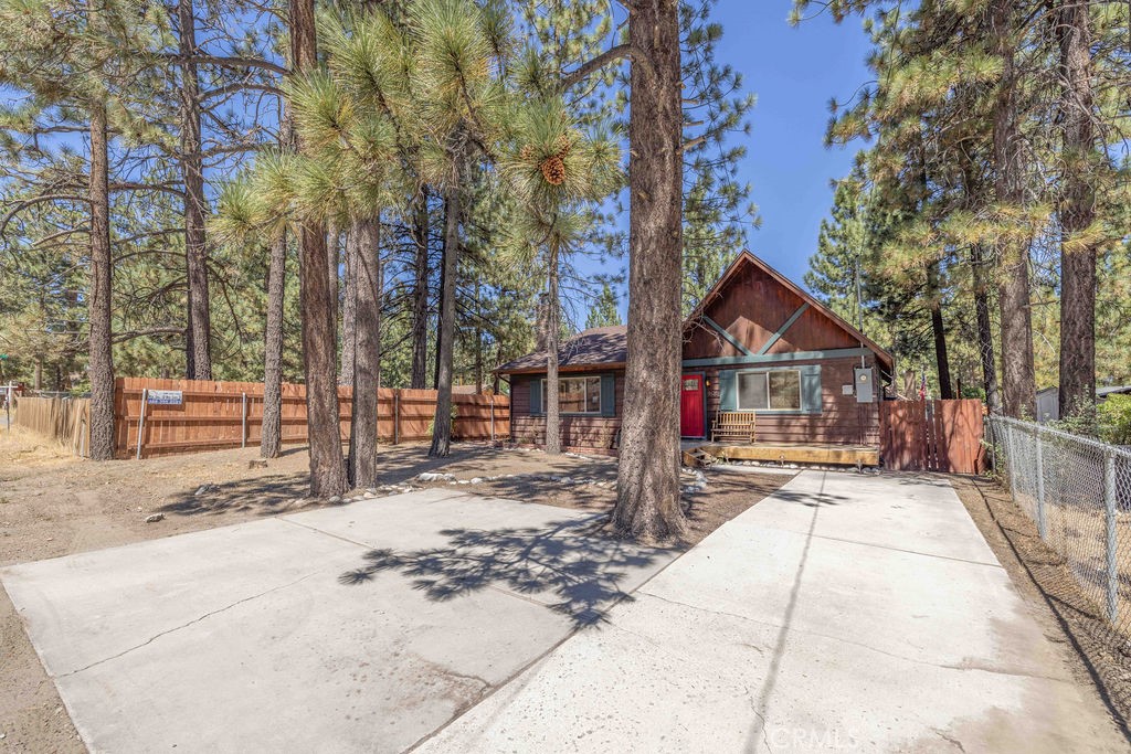
[[[1083,595],[1131,636],[1131,452],[991,416],[994,466]]]

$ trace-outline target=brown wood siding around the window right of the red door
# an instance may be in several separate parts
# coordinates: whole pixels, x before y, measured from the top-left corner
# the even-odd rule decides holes
[[[841,395],[841,385],[853,384],[853,369],[860,366],[860,357],[830,358],[821,361],[791,362],[787,366],[802,364],[821,365],[821,413],[820,414],[758,414],[756,440],[758,442],[830,442],[854,445],[880,444],[880,397],[877,402],[858,404],[856,396]],[[875,359],[864,358],[864,365],[875,369]],[[774,366],[786,366],[778,364]],[[759,365],[734,367],[737,371],[757,370]],[[718,367],[707,367],[707,426],[718,413],[719,384]]]

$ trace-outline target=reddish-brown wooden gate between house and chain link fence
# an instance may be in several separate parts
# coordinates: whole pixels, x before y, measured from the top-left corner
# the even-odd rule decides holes
[[[880,457],[893,471],[982,474],[986,466],[982,401],[886,400]]]

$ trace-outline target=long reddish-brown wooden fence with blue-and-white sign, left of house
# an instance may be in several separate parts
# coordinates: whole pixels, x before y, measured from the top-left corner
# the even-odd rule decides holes
[[[435,390],[378,390],[378,440],[431,440]],[[508,396],[454,393],[454,440],[510,436]],[[343,442],[349,439],[353,389],[338,388]],[[114,385],[114,454],[152,458],[259,444],[264,416],[261,382],[208,382],[119,378]],[[284,443],[307,442],[307,389],[283,384]],[[140,440],[141,450],[138,452]]]

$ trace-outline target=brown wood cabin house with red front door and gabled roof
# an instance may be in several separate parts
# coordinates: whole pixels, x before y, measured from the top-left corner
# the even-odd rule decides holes
[[[511,437],[545,443],[546,354],[499,367]],[[625,328],[586,330],[559,349],[562,444],[615,452]],[[758,443],[878,448],[895,359],[810,294],[743,251],[683,324],[681,434],[706,440],[719,411],[751,413]]]

